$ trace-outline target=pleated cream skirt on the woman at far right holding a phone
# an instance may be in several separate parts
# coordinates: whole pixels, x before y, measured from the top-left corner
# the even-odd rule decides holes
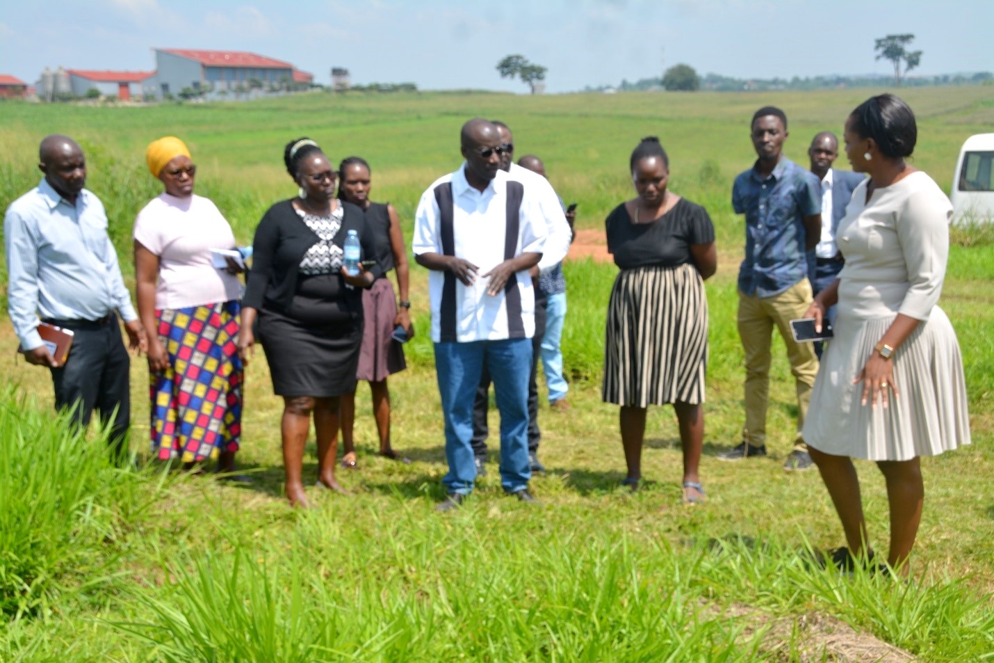
[[[804,421],[810,446],[835,456],[904,461],[970,443],[959,343],[938,307],[894,353],[901,396],[892,394],[887,409],[860,403],[863,382],[853,380],[895,318],[861,320],[839,311]]]

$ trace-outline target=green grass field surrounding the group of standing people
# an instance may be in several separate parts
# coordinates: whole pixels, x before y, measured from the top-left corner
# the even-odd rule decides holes
[[[841,545],[842,534],[817,475],[780,470],[796,408],[779,340],[767,426],[771,458],[747,466],[714,459],[738,442],[743,420],[734,322],[743,231],[730,190],[753,159],[748,117],[765,104],[786,110],[786,153],[806,163],[810,137],[841,132],[846,114],[869,94],[0,104],[0,205],[37,183],[37,145],[45,134],[76,137],[87,152],[88,188],[107,208],[129,284],[131,224],[160,190],[143,157],[156,137],[187,140],[200,166],[198,193],[217,202],[242,243],[269,204],[295,192],[281,154],[300,135],[318,140],[335,162],[365,156],[374,168],[374,199],[395,204],[410,237],[421,191],[458,165],[459,126],[476,114],[510,124],[519,156],[543,157],[562,197],[580,203],[581,228],[601,228],[610,209],[632,195],[628,153],[640,137],[659,135],[672,162],[672,189],[708,208],[720,252],[719,273],[708,282],[701,468],[708,502],[692,509],[679,503],[681,455],[669,409],[649,417],[645,490],[629,495],[618,486],[624,461],[616,408],[599,401],[611,265],[567,265],[564,351],[575,409],[570,416],[540,412],[549,472],[533,488],[544,506],[503,498],[491,465],[469,507],[447,517],[432,512],[444,456],[420,268],[412,270],[420,335],[408,345],[411,368],[391,380],[395,447],[414,463],[375,456],[369,395],[361,386],[361,470],[339,472],[353,495],[315,493],[319,508],[308,513],[290,511],[281,496],[281,405],[271,395],[261,352],[248,367],[240,453],[255,479],[251,488],[145,464],[143,359],[132,364],[132,448],[143,469],[122,472],[103,462],[97,431],[73,437],[53,420],[51,381],[11,358],[16,339],[4,312],[0,660],[875,660],[898,655],[888,645],[928,661],[994,660],[989,235],[955,234],[950,252],[941,306],[964,352],[974,444],[922,462],[925,513],[913,581],[845,578],[812,563],[812,551]],[[948,190],[963,139],[994,130],[994,90],[903,94],[919,120],[914,164]],[[6,285],[5,263],[0,281]],[[311,457],[305,473],[314,471]],[[882,478],[870,464],[859,471],[873,542],[886,549]],[[851,658],[832,659],[841,645],[829,636],[844,641]]]

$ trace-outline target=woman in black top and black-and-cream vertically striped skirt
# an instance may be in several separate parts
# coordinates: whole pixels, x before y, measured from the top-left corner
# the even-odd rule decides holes
[[[700,205],[668,191],[669,158],[643,138],[629,160],[638,195],[605,221],[607,251],[621,272],[607,309],[603,400],[621,406],[621,444],[632,490],[641,479],[645,411],[673,403],[684,454],[683,501],[704,500],[698,475],[704,439],[708,301],[715,228]]]

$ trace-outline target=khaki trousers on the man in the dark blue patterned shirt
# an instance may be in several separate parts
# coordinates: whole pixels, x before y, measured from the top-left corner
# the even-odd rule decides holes
[[[766,404],[769,398],[769,353],[773,326],[787,346],[790,372],[797,389],[797,435],[795,449],[805,449],[800,436],[818,374],[814,343],[794,340],[790,321],[802,318],[811,305],[811,284],[804,279],[773,297],[739,293],[739,336],[745,350],[745,427],[743,440],[752,446],[765,444]]]

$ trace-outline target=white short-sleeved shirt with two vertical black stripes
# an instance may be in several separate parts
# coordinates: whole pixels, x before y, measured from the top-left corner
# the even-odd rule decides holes
[[[489,279],[482,278],[504,262],[505,234],[507,232],[507,182],[503,170],[481,192],[466,181],[465,164],[453,173],[439,177],[421,195],[414,215],[414,238],[411,242],[414,255],[442,254],[441,224],[438,202],[434,189],[444,182],[452,183],[452,236],[454,253],[458,258],[476,265],[476,280],[464,286],[456,280],[455,320],[458,342],[474,340],[502,340],[510,337],[504,292],[491,297],[486,290]],[[524,184],[524,183],[523,183]],[[527,185],[519,212],[517,246],[514,255],[543,253],[548,228],[534,194]],[[557,203],[558,204],[558,203]],[[562,210],[561,210],[562,214]],[[535,335],[535,289],[528,271],[515,273],[518,293],[521,296],[521,316],[524,337]],[[431,305],[431,340],[441,337],[441,300],[445,273],[428,273],[428,298]]]

